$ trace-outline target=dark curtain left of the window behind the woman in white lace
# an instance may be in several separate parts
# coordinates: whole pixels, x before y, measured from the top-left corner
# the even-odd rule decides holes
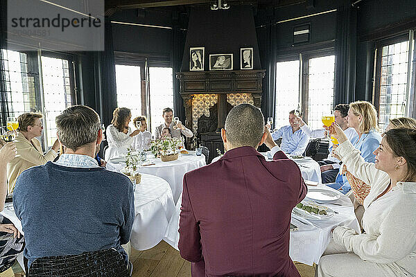
[[[96,103],[97,109],[101,116],[101,120],[105,126],[110,125],[112,120],[112,112],[117,107],[116,98],[116,68],[114,62],[114,45],[112,37],[112,25],[110,18],[105,17],[105,37],[104,37],[104,51],[98,53],[96,57],[96,64],[98,68],[95,69],[96,89],[98,95],[101,96],[101,102]]]

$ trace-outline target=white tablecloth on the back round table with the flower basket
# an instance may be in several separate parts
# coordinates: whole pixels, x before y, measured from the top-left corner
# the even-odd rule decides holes
[[[155,165],[142,166],[139,168],[139,172],[165,179],[172,188],[175,203],[182,193],[182,181],[185,173],[206,165],[205,156],[196,156],[195,151],[189,151],[189,154],[180,154],[176,161],[161,161],[160,159],[151,158],[150,162],[155,163]],[[109,170],[120,171],[124,166],[125,163],[107,163]]]

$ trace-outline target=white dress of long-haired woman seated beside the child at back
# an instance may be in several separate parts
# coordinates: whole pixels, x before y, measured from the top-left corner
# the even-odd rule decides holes
[[[105,150],[105,161],[110,161],[114,157],[127,154],[127,149],[131,147],[133,138],[130,136],[132,129],[128,127],[128,133],[124,134],[114,127],[109,125],[105,134],[107,136],[108,148]]]

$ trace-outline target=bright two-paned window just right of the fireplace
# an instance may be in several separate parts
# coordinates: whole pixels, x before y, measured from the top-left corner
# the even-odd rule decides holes
[[[322,116],[333,109],[335,55],[300,57],[276,64],[276,128],[288,125],[289,111],[299,105],[313,129],[322,127]]]

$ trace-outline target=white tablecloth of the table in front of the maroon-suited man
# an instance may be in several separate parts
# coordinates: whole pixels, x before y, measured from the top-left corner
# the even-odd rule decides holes
[[[318,188],[336,191],[322,184]],[[291,256],[292,260],[303,262],[306,265],[313,265],[313,262],[318,264],[322,253],[324,253],[324,250],[329,244],[329,240],[332,238],[331,230],[338,225],[354,228],[357,232],[360,231],[351,200],[342,193],[340,195],[340,199],[333,203],[342,204],[343,206],[330,203],[324,204],[333,209],[333,211],[338,212],[338,214],[333,215],[333,217],[327,220],[309,220],[309,222],[312,222],[316,226],[302,224],[295,217],[292,217],[292,223],[298,227],[297,231],[291,232],[289,256]],[[177,248],[177,243],[179,242],[179,232],[177,230],[179,229],[180,202],[182,202],[182,195],[180,201],[176,204],[175,215],[171,217],[164,237],[164,240],[177,250],[179,250]],[[301,220],[305,222],[303,218]]]

